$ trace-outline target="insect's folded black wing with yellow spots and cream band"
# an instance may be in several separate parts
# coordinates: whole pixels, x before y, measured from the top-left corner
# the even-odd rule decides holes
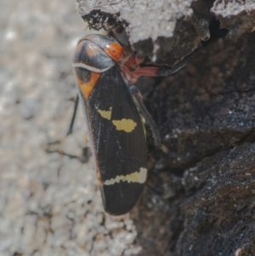
[[[118,66],[102,73],[82,97],[105,211],[120,215],[139,200],[147,169],[144,125]]]

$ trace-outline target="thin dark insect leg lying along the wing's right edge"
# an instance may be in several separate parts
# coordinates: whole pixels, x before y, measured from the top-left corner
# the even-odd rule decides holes
[[[154,139],[154,144],[157,147],[160,147],[161,137],[156,128],[156,123],[153,121],[153,118],[150,116],[150,113],[147,111],[144,105],[142,94],[139,92],[139,89],[135,85],[131,85],[129,87],[129,92],[133,98],[134,104],[137,106],[138,110],[141,112],[142,116],[145,118],[146,122],[148,122],[150,126],[150,130]]]

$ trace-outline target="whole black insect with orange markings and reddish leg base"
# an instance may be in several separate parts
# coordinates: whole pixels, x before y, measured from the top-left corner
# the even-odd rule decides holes
[[[161,145],[134,83],[140,76],[169,76],[188,61],[171,69],[141,67],[143,60],[114,38],[92,34],[78,41],[72,61],[102,201],[112,215],[129,212],[144,189],[147,148],[141,116],[150,125],[156,145]]]

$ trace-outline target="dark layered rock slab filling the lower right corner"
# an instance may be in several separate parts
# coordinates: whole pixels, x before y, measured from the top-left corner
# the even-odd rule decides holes
[[[255,144],[244,143],[185,171],[177,254],[255,255],[254,164]]]

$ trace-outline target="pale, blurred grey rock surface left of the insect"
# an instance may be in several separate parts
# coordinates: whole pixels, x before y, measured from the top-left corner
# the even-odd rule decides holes
[[[44,151],[65,136],[77,94],[71,57],[91,32],[75,2],[0,6],[0,255],[139,252],[133,220],[104,212],[89,151],[80,161],[88,148],[81,110],[74,134]]]

